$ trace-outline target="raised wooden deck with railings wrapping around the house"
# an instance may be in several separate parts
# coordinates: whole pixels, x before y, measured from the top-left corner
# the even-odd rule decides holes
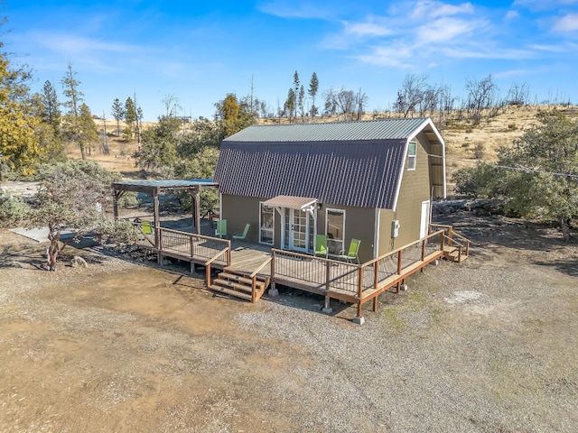
[[[359,318],[361,306],[365,302],[373,300],[373,309],[377,310],[379,294],[393,287],[398,292],[409,275],[423,272],[427,264],[442,258],[447,252],[448,243],[452,241],[446,231],[439,230],[367,263],[354,264],[264,245],[231,244],[231,241],[225,239],[163,227],[157,233],[159,239],[144,235],[139,244],[158,253],[159,263],[163,256],[169,256],[190,262],[191,268],[193,263],[205,266],[206,283],[210,289],[217,289],[211,280],[211,270],[216,268],[225,274],[238,275],[235,278],[246,281],[253,302],[266,290],[256,281],[259,278],[266,281],[266,285],[270,282],[273,290],[276,284],[281,284],[320,294],[325,297],[326,309],[329,309],[331,299],[357,304]],[[469,241],[465,251],[468,248]],[[459,251],[461,254],[461,248]],[[460,257],[458,261],[461,260]],[[225,282],[230,287],[238,286],[238,281]],[[221,291],[227,291],[228,286]],[[247,295],[240,297],[249,299]]]

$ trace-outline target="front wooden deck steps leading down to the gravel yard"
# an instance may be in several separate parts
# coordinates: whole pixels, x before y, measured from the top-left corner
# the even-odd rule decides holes
[[[270,277],[264,275],[255,276],[255,294],[253,294],[253,278],[247,272],[239,272],[225,268],[218,277],[212,281],[210,290],[224,293],[240,299],[256,302],[263,296],[269,287]]]

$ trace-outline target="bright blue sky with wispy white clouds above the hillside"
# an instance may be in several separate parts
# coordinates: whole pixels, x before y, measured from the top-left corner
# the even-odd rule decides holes
[[[361,88],[370,110],[391,107],[407,74],[460,96],[491,74],[502,95],[517,83],[532,100],[578,103],[578,0],[5,0],[2,14],[5,50],[33,68],[33,89],[60,91],[70,61],[95,115],[135,93],[145,120],[169,95],[181,115],[212,118],[251,80],[276,108],[295,70],[305,88],[316,72],[320,93]]]

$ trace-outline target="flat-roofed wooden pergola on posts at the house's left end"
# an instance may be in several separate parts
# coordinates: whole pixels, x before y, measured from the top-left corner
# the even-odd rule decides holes
[[[219,184],[210,179],[191,180],[122,180],[114,182],[114,215],[118,219],[118,198],[121,198],[126,191],[142,192],[153,198],[154,206],[154,233],[155,243],[158,242],[158,229],[160,228],[159,218],[159,196],[168,191],[189,191],[193,201],[193,217],[197,235],[200,235],[200,189],[217,188]],[[158,245],[155,245],[158,246]]]

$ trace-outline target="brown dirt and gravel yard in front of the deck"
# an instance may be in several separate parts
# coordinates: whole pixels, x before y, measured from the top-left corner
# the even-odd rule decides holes
[[[384,294],[363,326],[350,322],[353,308],[336,303],[326,316],[320,299],[296,290],[255,305],[215,297],[202,275],[98,247],[65,250],[62,263],[79,254],[88,268],[46,272],[42,244],[0,230],[0,431],[578,431],[576,244],[501,217],[458,217],[456,226],[473,240],[470,259],[432,266],[407,292]],[[322,359],[330,331],[349,349]],[[308,334],[320,340],[309,345]],[[430,359],[402,381],[388,372],[406,364],[382,361],[410,350],[404,338]],[[372,341],[379,348],[365,347]],[[340,387],[338,379],[359,370],[348,361],[359,352],[375,369],[361,372],[361,394],[355,380]],[[538,368],[544,380],[535,382]],[[470,396],[452,404],[471,404],[472,413],[444,415],[452,389]],[[406,394],[411,403],[401,404]],[[350,408],[353,395],[372,404]],[[433,410],[423,418],[425,408]]]

